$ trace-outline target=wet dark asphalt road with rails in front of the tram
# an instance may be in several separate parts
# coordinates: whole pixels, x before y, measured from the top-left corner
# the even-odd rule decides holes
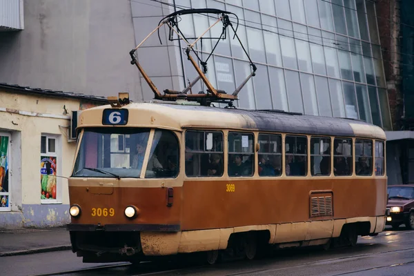
[[[2,275],[413,275],[414,231],[386,230],[377,237],[359,237],[354,248],[278,250],[266,259],[224,262],[215,266],[144,263],[83,271],[107,264],[83,264],[71,251],[0,257]],[[115,265],[115,266],[114,266]],[[70,272],[72,270],[73,272]],[[63,273],[65,272],[66,273]],[[57,275],[57,274],[54,274]]]

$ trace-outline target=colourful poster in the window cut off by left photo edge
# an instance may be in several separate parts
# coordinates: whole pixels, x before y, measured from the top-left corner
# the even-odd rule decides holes
[[[0,135],[0,210],[10,210],[8,144],[9,137]]]

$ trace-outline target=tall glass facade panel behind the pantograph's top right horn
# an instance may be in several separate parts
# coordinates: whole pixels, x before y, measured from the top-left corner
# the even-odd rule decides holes
[[[239,17],[239,21],[244,22],[243,21],[244,14],[243,14],[242,8],[237,8],[235,6],[230,6],[230,5],[226,5],[226,7],[229,12],[234,12],[235,14],[237,14],[237,17]],[[229,14],[228,17],[230,18],[230,21],[232,21],[233,23],[237,22],[237,19],[233,14]],[[233,35],[234,33],[232,30],[230,32],[230,37],[232,38],[230,39],[230,43],[231,43],[233,57],[247,60],[247,55],[244,53],[242,46],[240,45],[239,41],[236,38],[233,39]],[[247,43],[246,27],[244,26],[244,23],[241,23],[239,25],[239,28],[237,29],[237,36],[239,37],[240,41],[242,41],[242,45],[246,48],[246,46],[248,46],[248,43]]]

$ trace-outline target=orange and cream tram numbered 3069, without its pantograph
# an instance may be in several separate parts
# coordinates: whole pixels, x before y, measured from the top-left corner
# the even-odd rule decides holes
[[[83,262],[201,252],[214,264],[268,245],[355,246],[384,230],[377,126],[117,98],[79,118],[67,228]]]

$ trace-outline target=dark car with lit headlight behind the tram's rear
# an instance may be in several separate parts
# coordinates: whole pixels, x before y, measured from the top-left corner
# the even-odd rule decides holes
[[[397,229],[401,224],[414,229],[414,185],[388,186],[386,225]]]

